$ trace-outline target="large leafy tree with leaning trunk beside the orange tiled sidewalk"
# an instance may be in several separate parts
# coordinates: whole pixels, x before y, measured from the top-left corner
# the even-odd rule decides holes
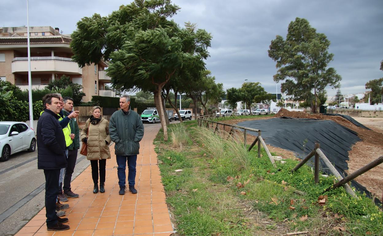
[[[180,28],[168,20],[179,9],[170,0],[136,0],[109,16],[82,18],[72,34],[73,59],[80,66],[110,60],[106,71],[116,88],[154,93],[164,140],[162,89],[179,70],[190,75],[204,70],[211,41],[203,29],[190,23]]]

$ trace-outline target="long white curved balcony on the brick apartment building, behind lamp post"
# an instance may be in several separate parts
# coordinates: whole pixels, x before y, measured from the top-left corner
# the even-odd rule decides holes
[[[12,60],[12,73],[28,73],[28,57]],[[67,57],[31,57],[31,72],[82,75],[82,68]]]

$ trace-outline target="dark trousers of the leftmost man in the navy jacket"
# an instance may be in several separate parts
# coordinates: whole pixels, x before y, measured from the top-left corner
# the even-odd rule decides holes
[[[57,224],[56,199],[59,194],[60,169],[44,169],[45,175],[45,209],[47,226]]]

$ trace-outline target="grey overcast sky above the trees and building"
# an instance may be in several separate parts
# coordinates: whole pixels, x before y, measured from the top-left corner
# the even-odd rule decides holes
[[[84,16],[110,14],[121,0],[29,0],[29,25],[52,26],[70,34]],[[296,17],[306,18],[318,33],[331,41],[329,64],[342,76],[343,94],[365,91],[365,83],[383,77],[382,0],[173,0],[181,7],[173,19],[196,23],[213,35],[206,67],[224,88],[239,88],[244,80],[260,82],[275,93],[275,62],[267,50],[276,35],[286,38],[287,27]],[[0,24],[26,25],[26,0],[0,1]],[[278,93],[280,84],[278,84]],[[336,93],[328,88],[329,96]]]

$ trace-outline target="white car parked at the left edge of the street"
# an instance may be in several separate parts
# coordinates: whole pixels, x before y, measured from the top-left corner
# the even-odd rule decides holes
[[[0,121],[0,161],[19,151],[36,150],[36,137],[33,129],[24,122]]]

